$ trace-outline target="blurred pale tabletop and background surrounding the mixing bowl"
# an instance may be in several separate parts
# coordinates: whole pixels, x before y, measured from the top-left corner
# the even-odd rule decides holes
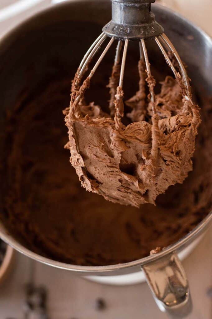
[[[59,2],[62,1],[0,0],[0,37],[21,20]],[[211,0],[157,2],[180,12],[212,36]],[[194,302],[192,319],[212,318],[211,242],[209,231],[183,262]],[[6,247],[1,244],[0,262],[5,252]],[[68,271],[29,260],[11,249],[7,250],[4,269],[4,274],[0,271],[0,319],[166,318],[158,310],[146,283],[132,286],[92,283]]]

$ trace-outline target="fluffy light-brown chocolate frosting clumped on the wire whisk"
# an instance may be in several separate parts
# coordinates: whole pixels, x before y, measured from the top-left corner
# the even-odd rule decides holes
[[[109,82],[111,100],[118,73],[117,65],[114,67]],[[192,170],[191,158],[200,124],[199,108],[187,99],[179,74],[176,80],[165,78],[156,102],[152,103],[146,102],[145,85],[147,82],[154,88],[155,79],[146,78],[142,61],[138,68],[139,91],[126,102],[132,108],[128,114],[131,124],[125,126],[121,121],[121,87],[117,87],[114,109],[110,100],[112,118],[94,103],[86,105],[84,93],[90,78],[78,88],[77,74],[70,108],[64,111],[69,129],[66,148],[70,149],[70,162],[82,186],[113,203],[135,207],[155,204],[156,197],[170,185],[185,180]]]

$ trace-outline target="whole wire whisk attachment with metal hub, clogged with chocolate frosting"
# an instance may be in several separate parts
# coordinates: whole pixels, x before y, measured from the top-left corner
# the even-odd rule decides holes
[[[71,151],[72,166],[87,190],[98,193],[114,203],[139,207],[144,203],[154,204],[156,197],[170,185],[181,183],[186,178],[187,172],[192,169],[190,159],[194,152],[194,139],[200,116],[198,107],[191,100],[185,67],[173,44],[164,34],[163,27],[155,21],[155,16],[151,12],[151,3],[154,0],[111,1],[112,20],[104,26],[103,33],[85,54],[72,84],[70,108],[64,111],[69,128],[67,147]],[[81,84],[91,60],[107,37],[110,38],[109,42]],[[166,109],[166,105],[160,108],[160,97],[155,95],[156,81],[151,74],[146,48],[146,40],[149,39],[156,42],[176,78],[175,84],[182,99],[181,104],[178,101],[177,105],[170,104],[173,110]],[[108,84],[111,115],[109,116],[100,106],[92,103],[87,105],[84,94],[89,88],[93,74],[115,40],[118,40],[118,44]],[[126,101],[127,106],[133,110],[127,114],[132,123],[125,126],[122,123],[122,87],[129,41],[139,43],[140,81],[139,91]],[[145,81],[149,86],[149,101],[146,99]],[[167,96],[167,99],[168,107],[170,98]],[[179,109],[175,109],[178,107]],[[171,116],[172,111],[173,114],[177,114]],[[178,111],[182,111],[182,114]],[[173,132],[172,129],[165,128],[166,124],[167,127],[171,125],[168,124],[170,117],[175,123]],[[173,137],[173,145],[177,146],[169,145],[168,149],[170,136]],[[186,144],[188,136],[191,139],[189,145]],[[83,141],[84,138],[86,143]],[[164,143],[164,147],[161,143]],[[172,174],[169,174],[169,169]]]

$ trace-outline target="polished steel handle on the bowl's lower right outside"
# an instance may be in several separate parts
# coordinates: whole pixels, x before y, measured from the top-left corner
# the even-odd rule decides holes
[[[184,318],[192,311],[188,280],[177,254],[142,266],[153,297],[170,318]]]

